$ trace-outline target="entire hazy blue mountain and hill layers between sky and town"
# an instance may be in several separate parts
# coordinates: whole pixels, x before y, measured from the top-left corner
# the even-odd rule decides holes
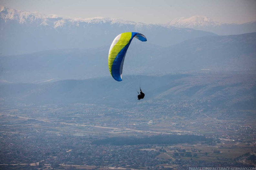
[[[192,23],[200,29],[223,25],[197,19]],[[256,33],[217,35],[172,26],[193,25],[181,21],[186,23],[77,19],[0,6],[0,106],[91,103],[151,109],[163,104],[185,112],[187,106],[228,108],[230,114],[255,109]],[[107,58],[113,38],[123,32],[143,33],[148,41],[132,41],[123,81],[117,82]],[[146,95],[141,101],[134,79]]]

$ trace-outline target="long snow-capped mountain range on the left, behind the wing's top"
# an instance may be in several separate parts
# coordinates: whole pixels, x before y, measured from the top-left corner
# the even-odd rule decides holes
[[[144,24],[104,17],[71,18],[0,6],[0,55],[108,46],[123,32],[143,33],[148,39],[147,43],[160,46],[216,35],[165,24]]]

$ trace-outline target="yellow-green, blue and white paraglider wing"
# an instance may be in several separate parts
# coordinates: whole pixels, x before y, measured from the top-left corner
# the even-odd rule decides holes
[[[147,41],[146,37],[141,33],[128,32],[121,33],[115,37],[110,46],[108,57],[109,71],[116,81],[122,81],[123,62],[133,37],[140,41]]]

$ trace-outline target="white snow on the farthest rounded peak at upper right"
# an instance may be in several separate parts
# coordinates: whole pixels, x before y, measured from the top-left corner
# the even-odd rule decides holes
[[[180,28],[195,28],[195,27],[207,27],[207,26],[217,26],[222,23],[218,21],[214,21],[206,16],[192,16],[190,18],[176,18],[171,22],[167,23],[167,25],[180,27]]]

